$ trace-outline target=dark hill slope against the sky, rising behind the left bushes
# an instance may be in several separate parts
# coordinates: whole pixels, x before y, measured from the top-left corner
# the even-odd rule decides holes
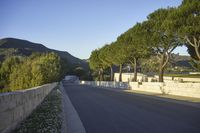
[[[42,44],[29,42],[26,40],[16,39],[16,38],[4,38],[0,39],[0,61],[4,60],[8,56],[29,56],[33,52],[55,52],[61,58],[67,59],[68,63],[73,66],[82,66],[88,69],[88,63],[84,60],[78,59],[66,51],[58,51],[54,49],[49,49]]]

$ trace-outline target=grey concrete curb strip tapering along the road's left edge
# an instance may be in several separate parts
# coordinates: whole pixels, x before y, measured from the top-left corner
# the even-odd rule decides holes
[[[60,84],[62,92],[63,122],[61,133],[86,133],[83,123],[78,113],[72,105],[67,93],[64,91],[62,83]]]

